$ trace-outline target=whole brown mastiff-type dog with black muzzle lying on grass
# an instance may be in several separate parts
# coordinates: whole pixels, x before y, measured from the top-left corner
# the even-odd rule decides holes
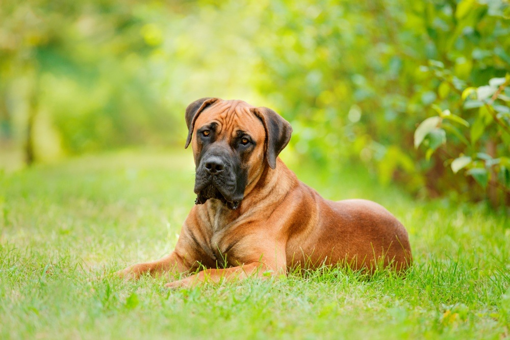
[[[403,225],[366,200],[330,201],[300,182],[278,158],[292,127],[268,108],[241,100],[202,98],[186,109],[196,165],[196,205],[175,250],[118,272],[198,274],[170,282],[286,274],[290,268],[349,265],[401,271],[411,264]]]

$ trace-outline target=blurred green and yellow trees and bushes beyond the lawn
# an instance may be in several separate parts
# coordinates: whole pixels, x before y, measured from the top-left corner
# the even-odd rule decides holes
[[[0,167],[182,148],[217,96],[289,120],[297,162],[508,206],[509,71],[502,0],[4,0]]]

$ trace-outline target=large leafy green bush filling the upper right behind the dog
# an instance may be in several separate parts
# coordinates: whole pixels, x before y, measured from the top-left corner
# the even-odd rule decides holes
[[[295,120],[297,152],[350,155],[416,193],[508,203],[508,4],[276,1],[265,13],[259,88]],[[466,178],[445,169],[462,153]]]

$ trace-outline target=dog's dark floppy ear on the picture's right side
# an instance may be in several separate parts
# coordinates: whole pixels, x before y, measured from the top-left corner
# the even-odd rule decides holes
[[[271,109],[260,107],[251,109],[262,120],[266,129],[266,157],[271,169],[276,168],[278,154],[287,146],[292,134],[292,126]]]

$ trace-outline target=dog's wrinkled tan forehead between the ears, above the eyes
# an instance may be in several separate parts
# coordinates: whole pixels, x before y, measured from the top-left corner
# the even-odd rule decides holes
[[[222,100],[208,107],[198,116],[195,129],[211,123],[217,124],[217,133],[235,133],[243,130],[255,135],[265,136],[262,121],[250,111],[254,108],[242,100]]]

